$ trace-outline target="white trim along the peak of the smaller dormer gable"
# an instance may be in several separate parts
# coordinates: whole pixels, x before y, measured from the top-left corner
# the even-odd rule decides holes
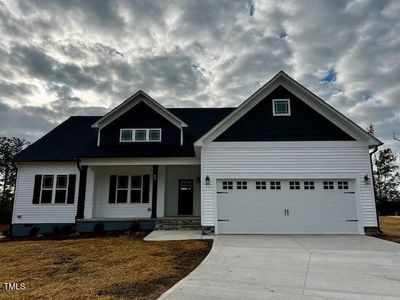
[[[188,126],[185,122],[183,122],[181,119],[176,117],[174,114],[172,114],[170,111],[168,111],[164,106],[159,104],[156,100],[151,98],[145,92],[138,91],[133,96],[131,96],[127,100],[125,100],[123,103],[121,103],[120,105],[115,107],[112,111],[110,111],[109,113],[104,115],[100,120],[93,123],[92,127],[93,128],[103,128],[103,127],[107,126],[112,121],[118,119],[120,116],[122,116],[124,113],[126,113],[128,110],[130,110],[131,108],[133,108],[140,102],[144,102],[145,104],[147,104],[150,108],[155,110],[157,113],[159,113],[165,119],[170,121],[176,127],[182,128],[182,127]]]

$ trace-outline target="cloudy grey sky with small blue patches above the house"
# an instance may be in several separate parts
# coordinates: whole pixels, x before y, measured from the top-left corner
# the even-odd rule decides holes
[[[398,153],[400,1],[0,0],[0,134],[35,141],[142,89],[236,106],[280,70]]]

